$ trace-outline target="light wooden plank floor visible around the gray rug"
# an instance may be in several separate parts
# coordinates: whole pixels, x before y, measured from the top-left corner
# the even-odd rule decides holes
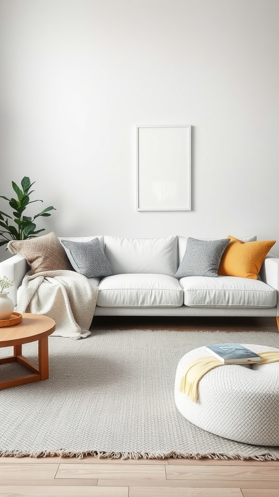
[[[278,333],[275,318],[94,318],[108,328]],[[279,497],[279,461],[2,457],[3,496]]]

